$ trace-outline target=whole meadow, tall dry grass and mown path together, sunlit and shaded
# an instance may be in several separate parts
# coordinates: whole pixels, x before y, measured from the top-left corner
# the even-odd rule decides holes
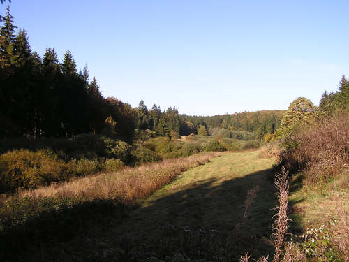
[[[12,240],[6,244],[6,254],[12,248],[11,259],[15,261],[160,261],[169,254],[173,258],[235,261],[244,251],[257,255],[271,252],[268,239],[275,205],[276,162],[259,154],[260,151],[246,150],[168,159],[119,173],[22,191],[2,201],[2,221],[13,219],[15,223],[5,234]],[[147,174],[147,181],[156,181],[159,175],[151,175],[161,173],[162,168],[177,172],[156,182],[147,194],[153,193],[147,196],[143,193],[145,181],[135,181],[142,172]],[[171,174],[168,171],[165,169]],[[179,175],[181,171],[185,172]],[[115,186],[114,180],[121,184]],[[140,187],[137,190],[127,184]],[[122,191],[118,193],[121,199],[116,197],[117,188]],[[137,192],[134,198],[122,199],[127,196],[127,188]],[[61,203],[69,203],[70,199],[70,206],[64,208],[59,201],[53,201],[61,198]],[[27,208],[37,210],[43,199],[52,200],[56,220],[49,216],[50,220],[45,221],[43,214],[27,222],[15,220],[15,212],[19,219]],[[75,205],[75,199],[85,200]],[[43,204],[44,214],[51,212],[47,205],[50,204]],[[15,253],[13,245],[27,226],[31,228],[21,236],[27,241],[22,242],[21,252]],[[36,232],[36,227],[42,232]]]

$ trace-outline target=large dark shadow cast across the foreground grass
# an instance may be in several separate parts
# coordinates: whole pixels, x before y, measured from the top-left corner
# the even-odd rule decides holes
[[[143,261],[173,254],[237,261],[244,252],[271,254],[274,173],[270,168],[220,184],[197,181],[138,207],[96,201],[45,214],[1,236],[1,245],[10,240],[5,261]]]

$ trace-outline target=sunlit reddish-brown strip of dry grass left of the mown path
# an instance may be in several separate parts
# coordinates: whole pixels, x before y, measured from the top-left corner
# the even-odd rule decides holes
[[[166,159],[159,163],[144,164],[138,168],[123,168],[114,173],[101,173],[71,182],[20,191],[20,196],[22,198],[82,196],[87,201],[116,198],[123,203],[130,203],[160,189],[179,173],[207,163],[219,155],[221,154],[211,152],[180,159]]]

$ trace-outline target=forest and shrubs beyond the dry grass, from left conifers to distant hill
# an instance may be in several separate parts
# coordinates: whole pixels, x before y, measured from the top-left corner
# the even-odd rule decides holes
[[[1,191],[70,180],[113,166],[258,147],[281,123],[283,110],[191,117],[176,107],[161,110],[154,104],[148,109],[140,101],[132,108],[105,98],[87,64],[78,71],[69,50],[63,61],[54,48],[40,57],[31,50],[27,31],[17,30],[9,7],[1,19],[0,161],[11,166],[16,156],[32,163],[16,171],[22,177],[16,180],[9,178],[14,166],[3,170],[9,177],[1,180]],[[190,144],[179,139],[189,135]],[[45,161],[61,168],[31,174],[31,165],[42,170]]]

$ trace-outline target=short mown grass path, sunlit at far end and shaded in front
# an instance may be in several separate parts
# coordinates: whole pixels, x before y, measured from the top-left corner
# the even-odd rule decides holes
[[[245,251],[255,256],[270,252],[274,159],[259,154],[228,152],[181,173],[127,209],[123,221],[95,224],[60,249],[86,261],[143,261],[139,257],[174,253],[236,261]],[[255,198],[243,219],[250,189]]]

